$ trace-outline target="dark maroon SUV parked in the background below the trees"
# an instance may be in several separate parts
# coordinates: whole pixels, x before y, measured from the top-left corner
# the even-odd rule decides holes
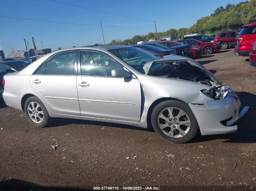
[[[236,46],[236,36],[239,32],[239,30],[220,32],[214,37],[214,43],[220,43],[221,49],[228,49],[229,46]]]

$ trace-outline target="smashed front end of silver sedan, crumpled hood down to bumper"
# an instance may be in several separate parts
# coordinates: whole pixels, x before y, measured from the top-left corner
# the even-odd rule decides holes
[[[188,103],[197,118],[202,135],[236,131],[237,126],[231,125],[248,110],[248,107],[241,108],[241,102],[231,88],[223,86],[215,75],[192,59],[171,56],[148,62],[143,69],[147,75],[175,78],[191,83],[204,84],[205,87],[208,87],[198,93],[202,93],[211,99],[207,99],[204,104]],[[192,84],[188,83],[186,85],[190,86]]]

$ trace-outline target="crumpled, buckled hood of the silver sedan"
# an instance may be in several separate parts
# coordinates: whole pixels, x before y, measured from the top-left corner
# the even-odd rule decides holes
[[[217,77],[215,75],[213,75],[207,68],[205,68],[203,65],[199,64],[198,62],[194,61],[193,59],[190,59],[188,57],[184,57],[184,56],[176,56],[176,55],[171,55],[168,56],[166,58],[162,58],[162,59],[157,59],[157,60],[153,60],[151,62],[147,62],[145,63],[145,65],[143,66],[143,70],[145,71],[145,74],[148,74],[150,68],[157,64],[157,63],[161,63],[161,62],[173,62],[173,61],[187,61],[189,62],[191,65],[200,68],[203,72],[205,72],[212,81],[214,81],[216,84],[222,85],[221,82],[217,79]]]

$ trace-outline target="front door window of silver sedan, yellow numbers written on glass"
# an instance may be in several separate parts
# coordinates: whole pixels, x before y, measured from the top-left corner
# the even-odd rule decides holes
[[[124,69],[110,57],[95,51],[80,52],[81,75],[112,76],[113,69]]]

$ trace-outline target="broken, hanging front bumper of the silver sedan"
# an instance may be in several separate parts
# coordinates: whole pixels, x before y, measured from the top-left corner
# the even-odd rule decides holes
[[[201,135],[215,135],[235,132],[234,124],[249,107],[241,110],[241,102],[232,92],[220,100],[208,100],[204,105],[188,104],[197,119]]]

